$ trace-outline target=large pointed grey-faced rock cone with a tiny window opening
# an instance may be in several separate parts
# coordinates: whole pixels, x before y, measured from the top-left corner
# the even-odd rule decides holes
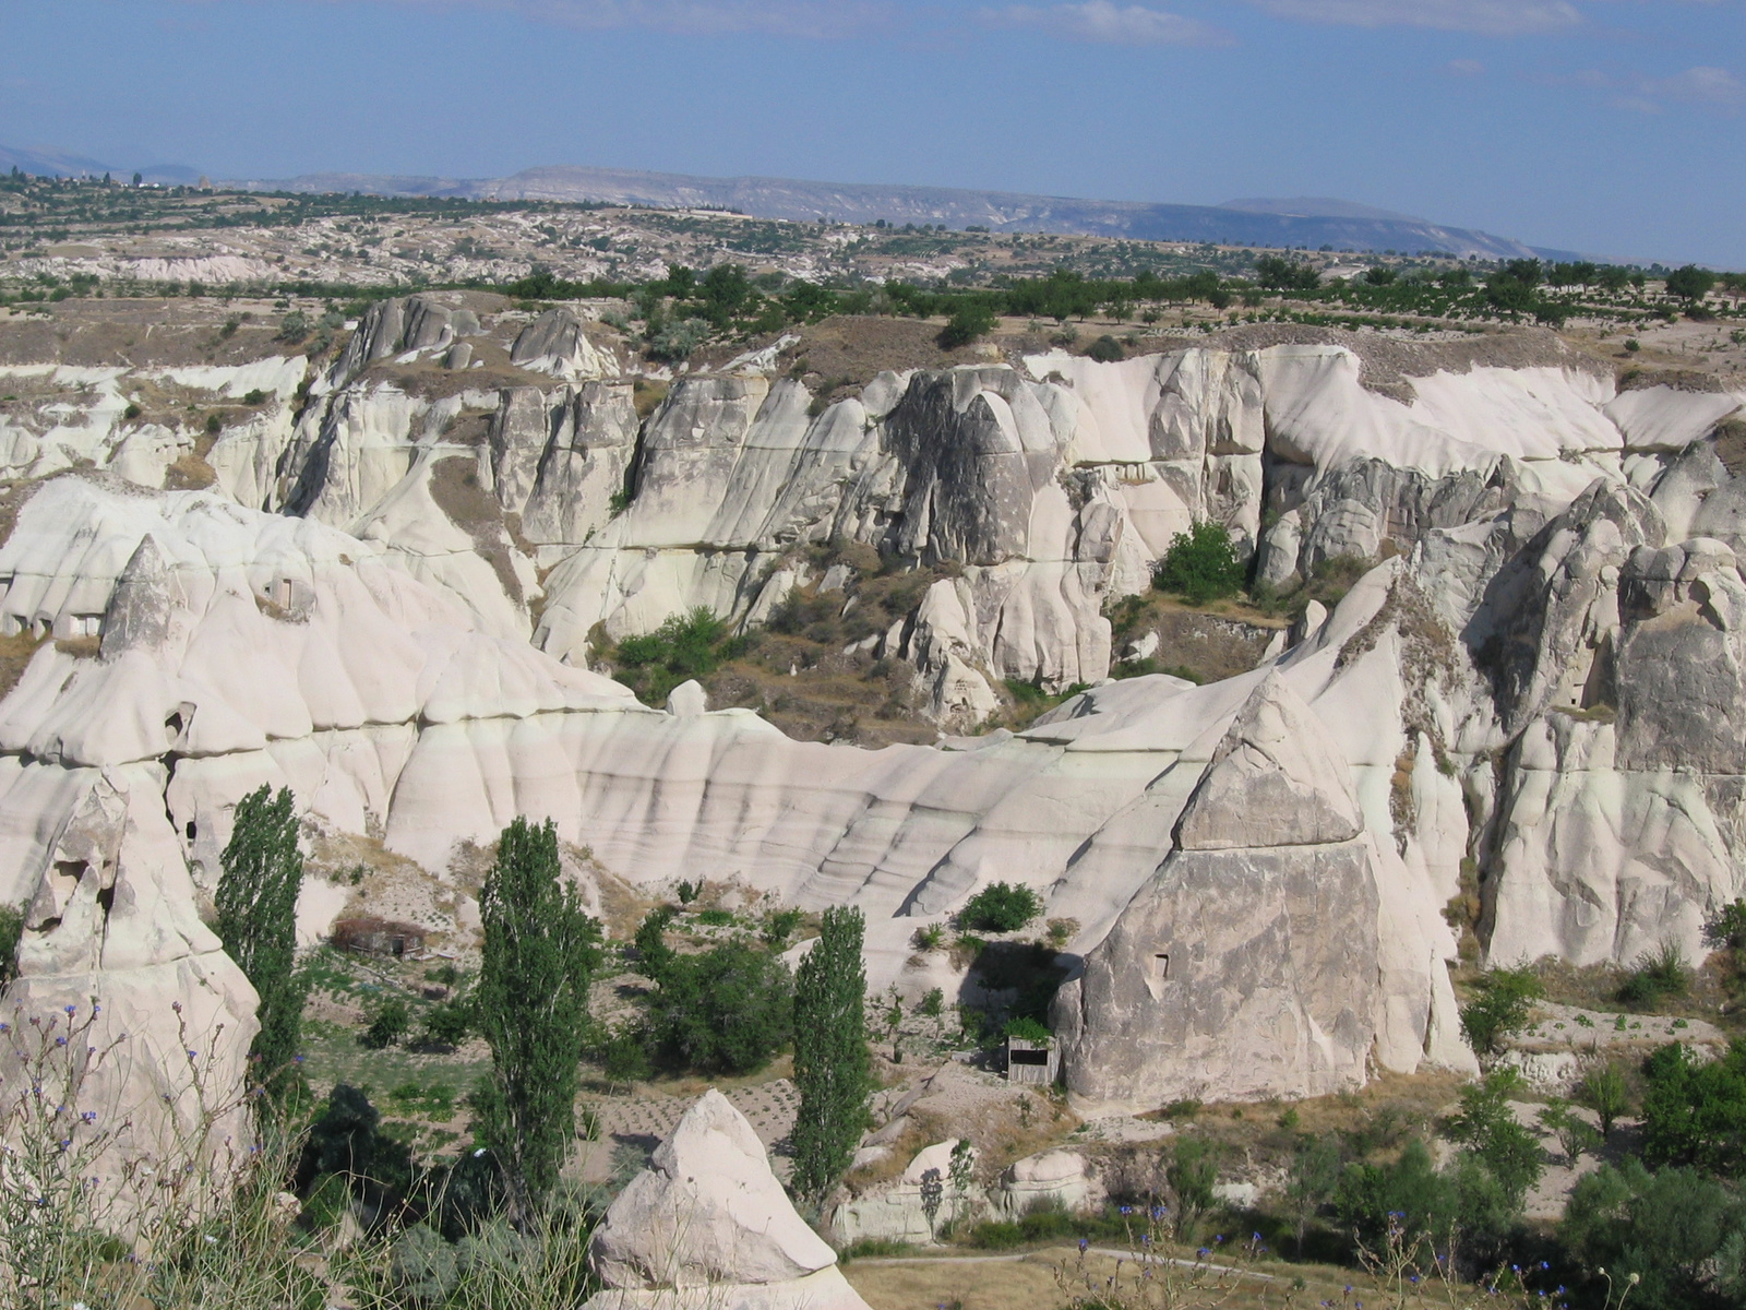
[[[1069,1090],[1158,1106],[1365,1079],[1378,887],[1344,770],[1278,674],[1231,725],[1177,847],[1055,1001]]]

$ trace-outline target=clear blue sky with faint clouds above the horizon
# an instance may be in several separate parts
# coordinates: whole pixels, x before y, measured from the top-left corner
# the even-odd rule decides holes
[[[1339,196],[1746,265],[1746,0],[9,0],[0,49],[0,143],[213,176]]]

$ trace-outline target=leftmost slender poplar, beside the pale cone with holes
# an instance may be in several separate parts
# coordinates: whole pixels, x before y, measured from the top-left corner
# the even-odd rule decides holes
[[[297,973],[297,894],[304,856],[290,788],[274,796],[264,783],[236,805],[230,842],[218,858],[217,922],[225,952],[260,997],[260,1032],[250,1046],[267,1106],[283,1106],[299,1086],[297,1046],[304,1025],[304,980]]]

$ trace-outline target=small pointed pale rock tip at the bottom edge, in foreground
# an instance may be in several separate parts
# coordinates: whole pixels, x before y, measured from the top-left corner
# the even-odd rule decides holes
[[[864,1310],[770,1172],[751,1123],[705,1092],[606,1212],[588,1259],[611,1307]]]

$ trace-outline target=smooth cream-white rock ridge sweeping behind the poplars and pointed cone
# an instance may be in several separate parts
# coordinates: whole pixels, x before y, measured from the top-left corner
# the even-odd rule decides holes
[[[1254,678],[1193,688],[1142,678],[1091,692],[1053,721],[980,749],[861,751],[786,739],[749,711],[665,714],[597,674],[485,636],[377,548],[311,521],[203,493],[51,482],[0,548],[0,615],[52,622],[77,587],[101,604],[103,653],[44,646],[0,702],[0,894],[52,863],[75,786],[105,767],[162,770],[164,809],[197,870],[213,870],[236,800],[288,784],[320,823],[386,831],[433,870],[459,840],[517,814],[553,817],[637,882],[739,877],[800,905],[854,903],[870,971],[901,980],[908,938],[993,879],[1044,893],[1083,924],[1083,950],[1152,873]],[[117,562],[124,561],[124,562]],[[1282,667],[1329,706],[1360,798],[1399,753],[1379,645],[1339,669],[1341,641],[1390,597],[1383,569]],[[107,592],[107,594],[105,594]],[[1259,674],[1257,674],[1259,676]],[[1378,695],[1378,688],[1383,695]],[[1381,823],[1388,831],[1386,796]],[[1392,849],[1392,845],[1390,845]],[[1386,852],[1385,852],[1386,854]],[[1381,1058],[1416,1067],[1449,1027],[1437,907],[1449,872],[1393,861],[1379,931],[1395,957],[1378,1015]],[[7,891],[10,887],[12,891]]]

